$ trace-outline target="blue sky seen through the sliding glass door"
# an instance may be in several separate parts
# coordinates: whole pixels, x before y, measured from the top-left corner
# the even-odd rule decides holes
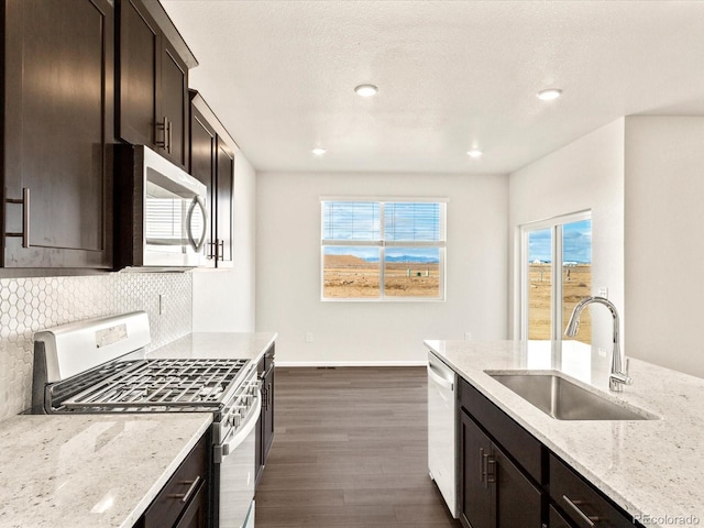
[[[563,262],[592,262],[592,221],[565,223],[562,228]],[[532,231],[528,239],[528,262],[552,262],[552,230]]]

